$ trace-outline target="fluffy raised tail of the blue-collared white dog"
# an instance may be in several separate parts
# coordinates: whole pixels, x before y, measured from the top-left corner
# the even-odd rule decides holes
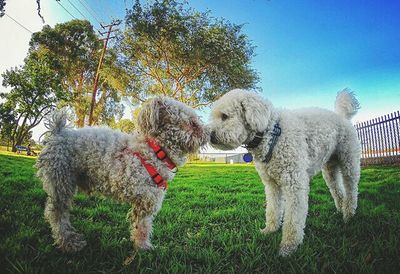
[[[339,91],[336,95],[335,112],[340,116],[350,120],[360,109],[360,103],[354,92],[348,88]]]

